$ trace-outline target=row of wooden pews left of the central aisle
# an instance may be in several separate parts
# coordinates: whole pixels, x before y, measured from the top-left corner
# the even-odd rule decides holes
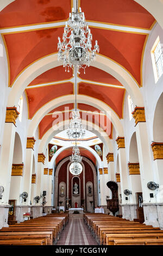
[[[68,214],[49,214],[0,229],[0,245],[55,245]]]

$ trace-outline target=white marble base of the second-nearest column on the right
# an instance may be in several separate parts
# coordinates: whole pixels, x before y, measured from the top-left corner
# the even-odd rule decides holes
[[[122,208],[122,218],[133,221],[134,218],[137,218],[136,214],[136,204],[121,204]]]

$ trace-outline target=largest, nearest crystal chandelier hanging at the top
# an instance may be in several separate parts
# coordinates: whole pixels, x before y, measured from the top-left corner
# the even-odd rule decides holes
[[[76,1],[76,11],[72,8],[72,13],[62,35],[62,42],[58,37],[58,60],[64,62],[65,71],[70,72],[69,68],[77,67],[79,73],[80,68],[84,69],[90,66],[92,60],[95,60],[96,52],[99,52],[97,40],[92,50],[92,34],[86,25],[84,13],[79,8]]]

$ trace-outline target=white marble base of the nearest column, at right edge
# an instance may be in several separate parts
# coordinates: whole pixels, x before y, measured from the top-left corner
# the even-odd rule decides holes
[[[163,203],[142,204],[145,224],[163,229]]]

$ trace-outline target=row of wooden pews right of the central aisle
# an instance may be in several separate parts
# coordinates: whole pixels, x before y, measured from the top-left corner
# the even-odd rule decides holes
[[[84,214],[99,245],[163,245],[163,230],[106,214]]]

